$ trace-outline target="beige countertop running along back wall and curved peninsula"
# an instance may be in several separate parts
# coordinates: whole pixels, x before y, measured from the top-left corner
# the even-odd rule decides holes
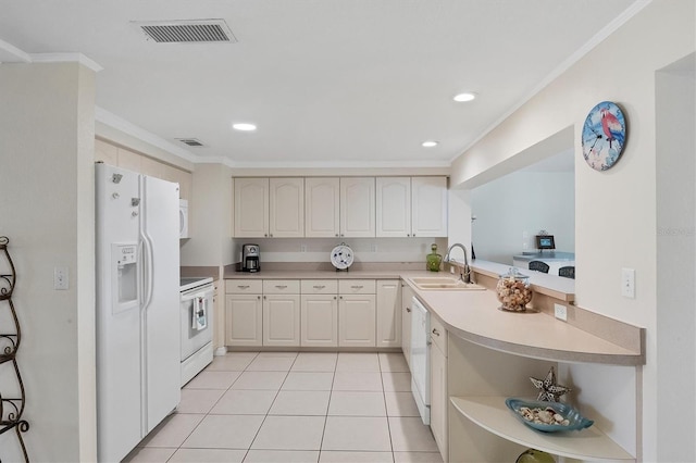
[[[508,271],[509,265],[475,261],[476,272],[495,276]],[[567,295],[572,300],[572,279],[529,272],[535,290]],[[355,270],[335,272],[326,270],[269,270],[259,273],[227,271],[225,279],[403,279],[418,298],[442,321],[448,331],[468,341],[529,358],[561,362],[606,363],[616,365],[645,364],[644,348],[626,349],[599,336],[556,320],[546,313],[504,312],[492,290],[420,290],[409,281],[417,276],[449,276],[448,273],[399,268]],[[568,292],[567,292],[568,291]],[[643,346],[643,342],[638,342]]]

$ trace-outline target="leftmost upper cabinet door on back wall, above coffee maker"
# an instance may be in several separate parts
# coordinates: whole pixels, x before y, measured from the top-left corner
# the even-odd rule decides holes
[[[269,236],[269,179],[235,178],[235,236]]]

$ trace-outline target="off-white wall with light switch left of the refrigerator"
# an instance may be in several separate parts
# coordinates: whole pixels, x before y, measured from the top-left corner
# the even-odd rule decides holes
[[[18,274],[29,459],[95,461],[95,75],[76,63],[3,63],[0,108],[0,235]],[[69,290],[53,290],[57,265],[69,268]],[[10,367],[0,365],[3,385]],[[21,460],[14,433],[0,449]]]

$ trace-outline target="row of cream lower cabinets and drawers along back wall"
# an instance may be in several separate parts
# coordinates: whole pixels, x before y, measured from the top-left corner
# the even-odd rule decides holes
[[[399,279],[228,279],[225,288],[225,346],[401,346]]]

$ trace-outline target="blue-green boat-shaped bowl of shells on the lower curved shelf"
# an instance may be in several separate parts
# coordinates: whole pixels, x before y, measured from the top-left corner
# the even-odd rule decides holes
[[[522,423],[544,433],[580,430],[595,423],[567,403],[508,398],[505,404]]]

